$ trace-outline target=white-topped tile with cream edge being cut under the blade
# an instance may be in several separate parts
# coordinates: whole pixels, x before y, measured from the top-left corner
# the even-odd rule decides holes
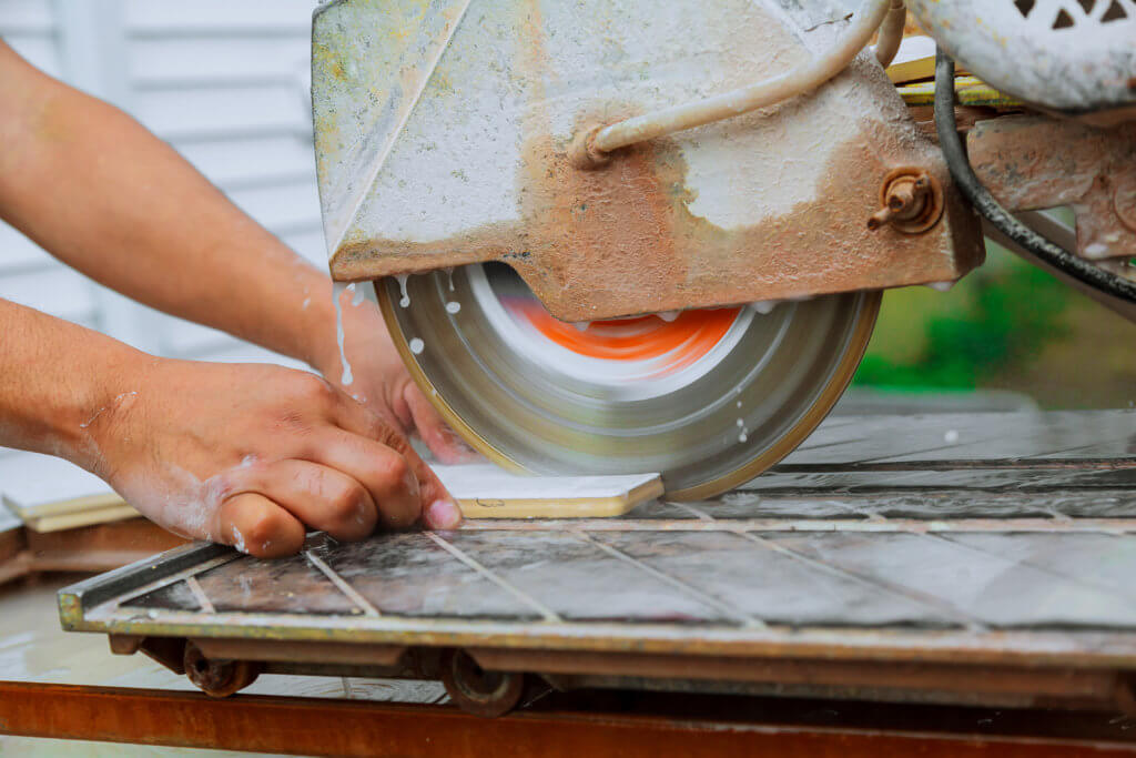
[[[658,474],[520,476],[491,464],[434,466],[466,518],[621,516],[662,494]]]

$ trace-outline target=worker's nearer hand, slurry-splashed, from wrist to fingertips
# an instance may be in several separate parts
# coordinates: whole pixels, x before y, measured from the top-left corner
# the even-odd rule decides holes
[[[148,358],[124,386],[86,424],[92,468],[174,532],[276,557],[306,527],[460,522],[402,433],[314,374]]]

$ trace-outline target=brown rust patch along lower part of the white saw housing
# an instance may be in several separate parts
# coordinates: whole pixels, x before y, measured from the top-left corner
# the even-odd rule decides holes
[[[818,192],[828,202],[797,203],[737,230],[690,211],[686,165],[673,142],[637,145],[583,172],[570,165],[567,145],[537,136],[525,149],[521,224],[437,242],[358,242],[337,252],[333,272],[370,278],[499,260],[566,320],[958,278],[985,253],[941,165],[930,173],[947,188],[949,223],[917,236],[864,228],[878,182],[905,163],[880,159],[884,131],[836,151]]]

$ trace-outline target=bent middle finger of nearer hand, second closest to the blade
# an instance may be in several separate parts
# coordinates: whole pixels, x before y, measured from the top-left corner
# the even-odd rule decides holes
[[[331,428],[317,438],[310,459],[362,484],[383,526],[406,528],[418,520],[423,509],[418,477],[407,459],[391,447],[368,436]]]

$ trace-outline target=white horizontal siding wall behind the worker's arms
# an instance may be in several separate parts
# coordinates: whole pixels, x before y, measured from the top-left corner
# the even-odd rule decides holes
[[[309,101],[314,0],[0,0],[0,36],[124,108],[294,250],[325,265]],[[0,224],[0,297],[165,356],[281,358],[169,318]]]

